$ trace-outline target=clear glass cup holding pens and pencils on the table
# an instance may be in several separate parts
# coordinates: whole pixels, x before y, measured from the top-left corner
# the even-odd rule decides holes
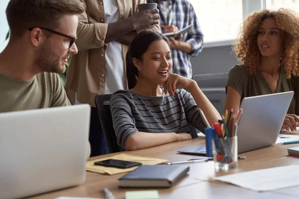
[[[216,171],[228,171],[238,167],[238,137],[216,137],[212,141]]]

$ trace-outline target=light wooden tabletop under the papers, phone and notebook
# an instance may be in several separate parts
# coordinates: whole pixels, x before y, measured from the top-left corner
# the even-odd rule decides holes
[[[126,151],[127,153],[138,156],[147,156],[153,158],[168,159],[170,162],[183,161],[192,158],[198,158],[195,155],[178,154],[176,151],[189,148],[196,145],[204,144],[204,139],[192,139],[181,142],[164,144],[157,147],[142,149],[137,151]],[[208,199],[208,198],[227,198],[227,199],[242,199],[247,198],[263,198],[263,199],[296,199],[299,198],[299,187],[278,190],[274,192],[253,192],[234,185],[217,182],[217,181],[202,181],[197,179],[207,179],[208,176],[221,176],[257,169],[266,169],[278,166],[286,166],[299,164],[299,158],[288,156],[287,148],[297,147],[299,144],[276,144],[270,147],[249,151],[243,154],[246,160],[239,160],[239,166],[228,172],[215,172],[214,162],[198,162],[191,163],[189,174],[171,188],[157,189],[161,199]],[[115,154],[108,154],[98,157],[92,157],[89,160],[109,157]],[[64,189],[56,192],[51,192],[43,195],[38,195],[28,199],[55,199],[60,196],[70,197],[89,197],[89,198],[104,198],[103,188],[107,187],[116,197],[116,199],[124,199],[126,191],[147,190],[135,188],[119,188],[118,179],[125,174],[118,175],[103,175],[92,172],[86,173],[86,181],[83,185],[69,189]],[[257,179],[258,180],[258,179]],[[152,189],[148,189],[152,190]]]

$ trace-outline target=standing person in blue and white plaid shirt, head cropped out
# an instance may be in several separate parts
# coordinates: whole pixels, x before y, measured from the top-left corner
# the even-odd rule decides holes
[[[161,32],[176,32],[193,24],[188,33],[180,35],[173,42],[171,54],[173,67],[171,73],[192,78],[190,56],[197,56],[203,47],[203,33],[201,31],[195,11],[187,0],[147,0],[157,3],[160,15]]]

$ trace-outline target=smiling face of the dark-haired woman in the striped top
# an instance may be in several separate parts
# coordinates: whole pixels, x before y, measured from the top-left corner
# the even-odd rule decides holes
[[[149,45],[148,50],[139,62],[139,78],[144,78],[153,84],[166,82],[172,68],[171,51],[166,41],[157,40]],[[136,65],[136,64],[135,64]]]

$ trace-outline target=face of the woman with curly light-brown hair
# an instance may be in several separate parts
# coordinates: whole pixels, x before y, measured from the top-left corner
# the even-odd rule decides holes
[[[260,25],[258,35],[259,50],[264,57],[283,53],[282,34],[274,18],[266,18]]]

